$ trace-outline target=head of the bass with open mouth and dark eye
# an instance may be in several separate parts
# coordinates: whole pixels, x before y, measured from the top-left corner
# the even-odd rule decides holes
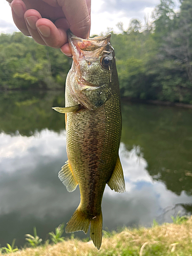
[[[111,97],[117,77],[111,34],[82,39],[69,32],[68,38],[73,55],[71,92],[79,103],[95,110]]]

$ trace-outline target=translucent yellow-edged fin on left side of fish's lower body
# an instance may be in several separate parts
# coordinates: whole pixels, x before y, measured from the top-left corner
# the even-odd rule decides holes
[[[73,170],[69,163],[69,160],[66,162],[65,165],[62,166],[58,176],[69,192],[72,192],[76,189],[78,183],[73,174]]]

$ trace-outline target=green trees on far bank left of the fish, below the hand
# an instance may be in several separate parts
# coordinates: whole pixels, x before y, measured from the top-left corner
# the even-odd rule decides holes
[[[0,35],[0,90],[65,86],[70,60],[22,33]]]

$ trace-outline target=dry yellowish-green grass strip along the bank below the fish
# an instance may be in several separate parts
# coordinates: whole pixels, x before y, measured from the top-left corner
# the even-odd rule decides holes
[[[180,222],[177,217],[175,219],[175,224],[157,225],[154,222],[151,228],[104,232],[99,251],[92,241],[83,242],[72,237],[54,245],[47,243],[22,249],[9,256],[192,256],[192,217]]]

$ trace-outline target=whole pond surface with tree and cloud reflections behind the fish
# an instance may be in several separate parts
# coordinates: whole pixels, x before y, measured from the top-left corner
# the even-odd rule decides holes
[[[1,92],[0,244],[25,234],[44,241],[80,202],[58,179],[67,160],[63,92]],[[120,159],[124,194],[106,186],[103,229],[151,226],[192,212],[192,110],[122,103]],[[63,234],[67,236],[67,234]],[[88,237],[76,232],[76,237]]]

